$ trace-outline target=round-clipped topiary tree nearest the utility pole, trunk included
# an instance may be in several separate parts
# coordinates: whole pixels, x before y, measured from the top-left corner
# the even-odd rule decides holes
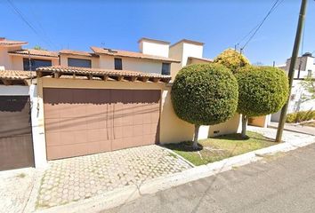
[[[285,72],[277,67],[240,68],[238,79],[238,113],[242,114],[242,137],[246,138],[249,117],[273,114],[288,99],[288,81]]]

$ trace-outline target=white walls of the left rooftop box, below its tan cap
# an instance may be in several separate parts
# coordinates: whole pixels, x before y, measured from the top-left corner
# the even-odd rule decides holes
[[[143,54],[156,55],[156,56],[162,56],[162,57],[167,58],[168,51],[169,51],[169,44],[141,41],[139,43],[139,49]]]

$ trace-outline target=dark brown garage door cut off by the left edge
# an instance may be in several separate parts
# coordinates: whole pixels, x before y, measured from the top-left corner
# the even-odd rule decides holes
[[[34,166],[26,96],[0,96],[0,170]]]

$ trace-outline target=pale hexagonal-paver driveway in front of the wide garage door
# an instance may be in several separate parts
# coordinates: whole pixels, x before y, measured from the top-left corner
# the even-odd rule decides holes
[[[160,146],[52,161],[44,172],[36,208],[45,209],[93,197],[124,185],[190,169]]]

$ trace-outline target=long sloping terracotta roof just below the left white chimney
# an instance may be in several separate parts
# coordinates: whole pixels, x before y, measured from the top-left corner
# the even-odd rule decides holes
[[[148,54],[143,54],[141,52],[136,52],[136,51],[119,51],[119,50],[112,50],[112,49],[106,49],[106,48],[101,48],[101,47],[91,47],[91,49],[96,54],[106,54],[106,55],[110,55],[110,56],[129,57],[129,58],[136,58],[136,59],[153,59],[153,60],[175,62],[175,63],[181,62],[181,61],[176,60],[176,59],[170,59],[170,58],[166,58],[166,57],[148,55]]]

